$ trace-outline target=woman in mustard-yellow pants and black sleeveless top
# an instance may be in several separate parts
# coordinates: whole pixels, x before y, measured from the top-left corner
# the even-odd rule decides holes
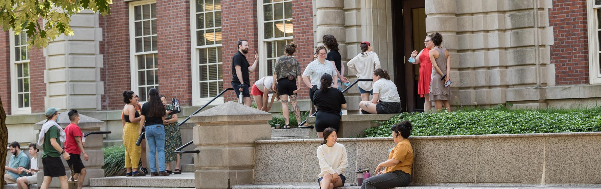
[[[133,91],[123,91],[123,146],[125,147],[125,176],[146,176],[144,172],[138,172],[140,162],[141,146],[136,146],[140,128],[140,114],[135,106],[138,105],[139,97]]]

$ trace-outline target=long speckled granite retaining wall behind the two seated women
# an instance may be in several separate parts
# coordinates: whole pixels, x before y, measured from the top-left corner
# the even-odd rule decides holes
[[[601,132],[410,137],[414,184],[601,184]],[[255,141],[255,184],[316,182],[320,139]],[[386,161],[392,138],[339,138],[355,170]]]

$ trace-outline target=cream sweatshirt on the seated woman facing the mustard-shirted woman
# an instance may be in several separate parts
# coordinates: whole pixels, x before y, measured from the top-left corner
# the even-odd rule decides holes
[[[343,175],[347,166],[346,148],[340,143],[334,143],[332,147],[322,144],[322,146],[317,147],[317,159],[319,160],[319,167],[322,168],[319,177],[323,177],[326,173]]]

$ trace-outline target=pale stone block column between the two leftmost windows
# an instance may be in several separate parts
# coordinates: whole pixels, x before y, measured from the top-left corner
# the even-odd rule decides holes
[[[98,14],[84,10],[71,17],[73,36],[60,36],[44,49],[46,107],[100,110],[104,95]]]

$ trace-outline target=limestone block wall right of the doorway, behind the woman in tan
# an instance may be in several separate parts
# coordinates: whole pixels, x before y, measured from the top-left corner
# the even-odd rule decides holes
[[[513,94],[555,85],[551,6],[550,0],[426,0],[426,30],[441,33],[451,55],[451,104],[540,104],[544,95],[514,99]]]

